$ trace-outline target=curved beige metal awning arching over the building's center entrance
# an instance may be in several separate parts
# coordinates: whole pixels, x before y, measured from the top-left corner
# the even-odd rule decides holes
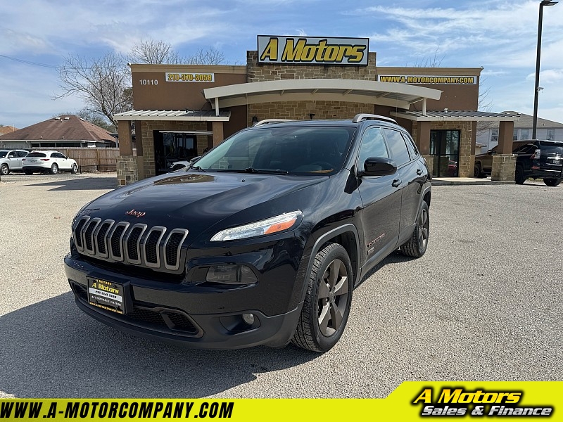
[[[379,104],[408,110],[412,103],[439,100],[442,91],[393,82],[358,79],[283,79],[203,90],[217,113],[233,106],[277,101],[340,101]]]

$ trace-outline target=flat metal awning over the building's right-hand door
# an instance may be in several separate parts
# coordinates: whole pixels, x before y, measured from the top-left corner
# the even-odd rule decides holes
[[[488,113],[486,111],[392,111],[391,115],[416,122],[517,122],[518,114]]]

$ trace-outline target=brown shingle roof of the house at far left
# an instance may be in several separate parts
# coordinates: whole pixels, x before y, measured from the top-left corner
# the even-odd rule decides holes
[[[109,132],[75,115],[61,115],[0,136],[0,141],[115,141]]]

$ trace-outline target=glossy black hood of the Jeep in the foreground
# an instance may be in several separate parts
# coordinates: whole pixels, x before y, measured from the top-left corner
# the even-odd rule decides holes
[[[175,172],[106,193],[82,213],[116,222],[185,228],[189,237],[194,238],[237,212],[327,179],[326,176]],[[267,217],[271,216],[257,218]]]

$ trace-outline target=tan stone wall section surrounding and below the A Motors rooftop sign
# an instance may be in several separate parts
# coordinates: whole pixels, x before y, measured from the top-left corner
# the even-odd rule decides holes
[[[367,66],[258,65],[258,51],[246,52],[247,82],[281,79],[377,79],[375,53],[368,53]]]

